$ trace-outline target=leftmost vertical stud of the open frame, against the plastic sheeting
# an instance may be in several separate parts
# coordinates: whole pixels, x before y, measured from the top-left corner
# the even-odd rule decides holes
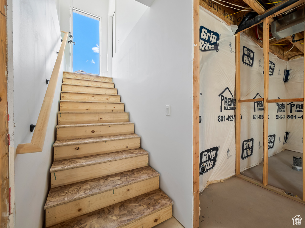
[[[240,100],[240,33],[235,35],[235,89],[236,89],[236,100]],[[240,174],[240,103],[236,103],[236,114],[235,114],[235,174]]]

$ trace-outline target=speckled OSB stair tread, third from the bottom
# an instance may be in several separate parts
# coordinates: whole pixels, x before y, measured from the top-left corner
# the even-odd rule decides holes
[[[130,149],[130,150],[122,150],[117,152],[111,152],[106,154],[97,154],[80,158],[69,158],[64,160],[54,161],[51,168],[50,173],[63,171],[67,169],[80,168],[83,166],[101,164],[106,162],[112,162],[122,159],[127,159],[131,157],[138,157],[143,155],[148,155],[149,153],[142,149]]]

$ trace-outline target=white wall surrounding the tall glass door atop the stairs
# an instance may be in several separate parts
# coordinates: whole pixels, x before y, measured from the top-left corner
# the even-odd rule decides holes
[[[60,2],[60,29],[70,32],[70,3],[72,7],[101,17],[101,74],[107,72],[107,42],[108,42],[108,1],[109,0],[61,0]],[[69,64],[69,48],[67,48],[66,62]],[[72,71],[72,69],[71,69]]]

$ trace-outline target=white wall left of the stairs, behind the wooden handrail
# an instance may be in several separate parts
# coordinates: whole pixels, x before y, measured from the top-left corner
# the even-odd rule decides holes
[[[10,17],[13,39],[9,40],[9,105],[10,146],[16,151],[19,143],[30,143],[50,79],[56,51],[61,45],[61,33],[54,0],[14,0]],[[11,54],[11,53],[9,53]],[[59,78],[62,78],[62,69]],[[52,164],[61,80],[57,83],[48,132],[42,152],[14,154],[10,164],[15,172],[15,228],[40,228],[44,221],[44,204],[50,186],[49,168]],[[13,113],[13,114],[12,114]],[[12,128],[13,126],[13,128]],[[13,130],[12,130],[13,129]],[[12,157],[11,157],[12,158]],[[12,160],[12,159],[10,159]],[[12,196],[13,198],[13,196]],[[12,205],[13,206],[13,205]],[[10,221],[11,222],[11,221]]]

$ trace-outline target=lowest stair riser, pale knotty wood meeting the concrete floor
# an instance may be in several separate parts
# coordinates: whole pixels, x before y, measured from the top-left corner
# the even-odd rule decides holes
[[[154,212],[149,216],[143,217],[133,223],[129,223],[127,226],[118,226],[117,228],[152,228],[153,226],[158,225],[159,223],[164,222],[167,219],[173,217],[173,206],[170,205],[160,211]]]

